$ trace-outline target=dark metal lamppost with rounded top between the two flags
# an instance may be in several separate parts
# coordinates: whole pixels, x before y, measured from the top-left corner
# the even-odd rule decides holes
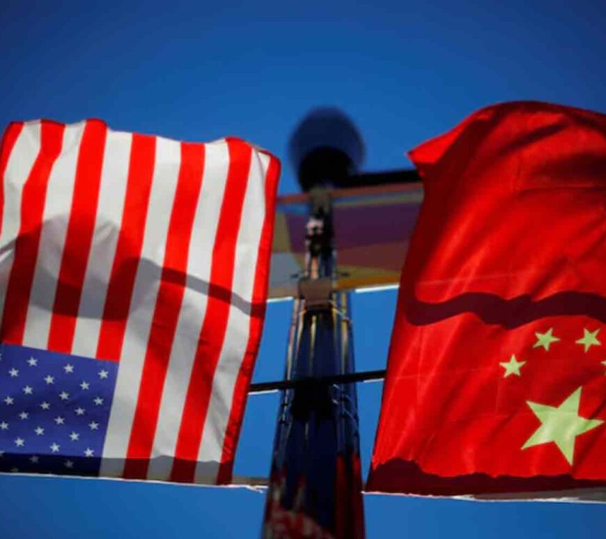
[[[309,194],[306,261],[293,303],[267,492],[264,538],[364,538],[350,299],[336,291],[330,192],[357,172],[362,138],[335,109],[306,116],[290,140]]]

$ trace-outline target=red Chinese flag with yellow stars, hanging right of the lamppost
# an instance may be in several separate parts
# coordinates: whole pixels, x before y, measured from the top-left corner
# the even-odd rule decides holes
[[[410,153],[401,278],[367,491],[606,492],[606,116],[482,109]]]

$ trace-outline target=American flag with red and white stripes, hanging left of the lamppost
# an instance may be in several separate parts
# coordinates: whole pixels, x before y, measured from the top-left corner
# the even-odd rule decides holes
[[[8,126],[0,471],[230,482],[278,176],[236,138]]]

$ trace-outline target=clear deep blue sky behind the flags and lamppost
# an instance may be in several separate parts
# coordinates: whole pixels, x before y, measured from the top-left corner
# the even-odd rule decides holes
[[[601,7],[600,7],[601,4]],[[188,140],[238,135],[286,158],[318,105],[350,114],[366,169],[503,100],[606,112],[600,1],[0,1],[0,126],[46,116]],[[286,165],[286,163],[284,163]],[[296,183],[283,168],[281,193]],[[354,298],[360,370],[382,368],[396,297]],[[283,370],[290,305],[270,305],[255,379]],[[380,384],[359,386],[368,468]],[[236,473],[263,476],[277,395],[251,397]],[[217,489],[0,477],[0,537],[257,537],[264,496]],[[369,538],[566,538],[603,533],[603,506],[366,496]]]

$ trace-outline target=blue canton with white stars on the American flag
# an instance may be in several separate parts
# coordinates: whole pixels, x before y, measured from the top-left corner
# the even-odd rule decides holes
[[[0,472],[98,476],[117,371],[0,344]]]

